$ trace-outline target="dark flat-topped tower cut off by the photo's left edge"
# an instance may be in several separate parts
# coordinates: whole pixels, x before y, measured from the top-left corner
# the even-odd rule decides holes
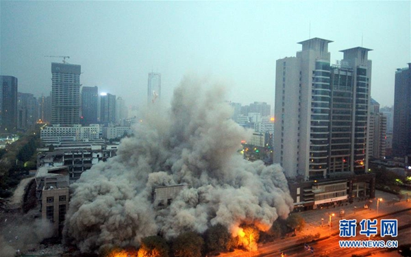
[[[13,76],[0,75],[0,132],[14,132],[17,126],[17,87]]]

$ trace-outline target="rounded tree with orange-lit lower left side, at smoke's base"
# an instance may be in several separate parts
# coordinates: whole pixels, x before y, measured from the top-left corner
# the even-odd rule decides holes
[[[161,236],[142,238],[138,257],[169,257],[169,245]]]

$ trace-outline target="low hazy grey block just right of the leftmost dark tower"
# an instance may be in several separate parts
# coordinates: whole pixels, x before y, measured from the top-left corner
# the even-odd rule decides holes
[[[17,96],[17,127],[31,128],[38,120],[38,102],[33,94],[18,93]]]

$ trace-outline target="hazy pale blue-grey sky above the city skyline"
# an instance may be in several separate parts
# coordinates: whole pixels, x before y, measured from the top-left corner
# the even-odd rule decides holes
[[[81,64],[83,86],[145,105],[150,71],[162,98],[187,73],[227,84],[227,100],[275,99],[275,60],[297,42],[333,40],[340,50],[373,49],[371,95],[394,102],[395,69],[411,62],[411,1],[0,1],[1,75],[18,91],[49,95],[51,62]],[[311,28],[311,29],[310,29]],[[363,38],[363,39],[362,39]]]

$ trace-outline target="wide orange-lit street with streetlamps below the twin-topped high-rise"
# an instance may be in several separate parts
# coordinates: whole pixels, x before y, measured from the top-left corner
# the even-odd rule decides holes
[[[378,203],[377,200],[382,199]],[[364,208],[364,205],[369,208]],[[344,210],[344,216],[340,217],[340,210]],[[332,214],[334,213],[334,216]],[[356,248],[340,248],[338,241],[339,236],[339,221],[340,219],[356,219],[360,222],[362,219],[398,219],[399,232],[397,238],[386,236],[386,240],[397,240],[399,245],[411,243],[411,228],[403,228],[404,225],[411,224],[411,201],[407,201],[406,197],[399,201],[396,195],[376,191],[375,199],[354,201],[352,204],[344,204],[335,208],[323,208],[321,210],[310,210],[299,212],[306,219],[306,227],[301,232],[297,232],[297,236],[277,239],[274,243],[259,245],[256,252],[245,252],[237,250],[229,254],[221,254],[221,256],[280,256],[284,252],[286,256],[335,256],[338,252],[339,256],[351,256],[352,254],[373,253],[373,256],[399,256],[396,251],[383,253],[377,248],[356,249]],[[332,226],[329,228],[329,217],[331,215]],[[323,219],[323,220],[322,220]],[[322,223],[322,225],[321,225]],[[360,225],[357,226],[359,230]],[[310,247],[314,248],[314,254],[306,251],[303,246],[303,237],[320,233],[320,240],[314,243],[309,243]],[[329,234],[332,234],[330,237]],[[353,240],[368,240],[365,236],[359,235],[357,232]],[[388,239],[390,238],[390,239]],[[371,238],[371,240],[382,240],[382,238]],[[383,250],[385,251],[385,250]],[[379,253],[381,252],[381,253]]]

